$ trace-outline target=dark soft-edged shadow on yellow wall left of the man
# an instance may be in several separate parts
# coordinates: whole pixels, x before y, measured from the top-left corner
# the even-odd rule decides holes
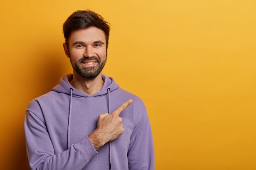
[[[56,46],[56,44],[54,45]],[[22,115],[23,118],[18,120],[19,125],[16,126],[16,129],[13,129],[13,135],[16,136],[16,139],[14,139],[14,146],[10,148],[10,153],[8,154],[8,170],[28,170],[24,136],[24,118],[27,104],[32,99],[51,91],[58,83],[58,80],[63,77],[63,73],[66,73],[63,71],[63,63],[67,60],[64,52],[57,53],[50,45],[42,48],[48,49],[47,52],[42,52],[41,47],[33,56],[29,56],[29,58],[36,56],[37,59],[30,60],[27,63],[27,67],[29,67],[27,73],[21,73],[24,76],[24,81],[21,82],[24,83],[22,84],[24,87],[24,92],[22,93],[24,94],[21,95],[25,100],[22,101],[23,103],[19,108],[16,108],[16,113],[24,114]]]

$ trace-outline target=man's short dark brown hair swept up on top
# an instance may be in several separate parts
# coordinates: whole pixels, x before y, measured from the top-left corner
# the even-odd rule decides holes
[[[108,49],[108,38],[110,31],[110,26],[108,24],[109,23],[106,22],[101,15],[93,11],[75,11],[67,18],[67,20],[63,24],[63,33],[67,48],[69,48],[68,40],[72,31],[95,26],[96,28],[101,29],[104,32],[106,37],[106,46]]]

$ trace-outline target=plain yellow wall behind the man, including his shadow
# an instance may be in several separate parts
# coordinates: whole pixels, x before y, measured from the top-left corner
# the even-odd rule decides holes
[[[62,24],[111,23],[103,73],[144,100],[157,170],[256,169],[255,0],[3,0],[1,170],[26,170],[27,104],[72,69]]]

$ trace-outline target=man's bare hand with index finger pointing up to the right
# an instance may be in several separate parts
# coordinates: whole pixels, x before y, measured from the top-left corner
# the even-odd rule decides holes
[[[117,139],[117,137],[124,133],[124,127],[122,124],[123,119],[119,115],[131,103],[132,100],[127,100],[111,114],[103,113],[99,115],[96,130],[88,136],[97,151],[101,146],[109,141]]]

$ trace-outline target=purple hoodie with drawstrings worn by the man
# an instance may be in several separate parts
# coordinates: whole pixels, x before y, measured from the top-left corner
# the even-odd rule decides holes
[[[89,96],[70,85],[72,74],[52,91],[32,100],[26,109],[25,140],[31,170],[154,170],[153,137],[146,107],[139,97],[119,88],[102,74],[101,91]],[[126,100],[121,114],[124,133],[94,149],[88,135],[98,116]]]

